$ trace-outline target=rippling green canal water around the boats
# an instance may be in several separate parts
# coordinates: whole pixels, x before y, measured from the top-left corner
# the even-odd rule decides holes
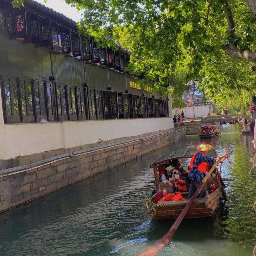
[[[221,125],[211,140],[219,155],[230,150],[232,165],[222,164],[227,202],[209,218],[183,220],[158,256],[246,256],[256,244],[256,170],[252,136],[238,124]],[[206,141],[208,142],[208,141]],[[2,256],[133,256],[157,242],[171,220],[150,220],[144,198],[154,188],[150,164],[171,150],[201,143],[198,135],[130,161],[29,204],[0,214]]]

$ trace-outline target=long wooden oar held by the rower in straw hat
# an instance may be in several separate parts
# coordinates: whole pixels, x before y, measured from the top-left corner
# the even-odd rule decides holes
[[[178,226],[180,225],[180,222],[183,220],[184,216],[188,212],[188,209],[190,208],[191,204],[196,199],[196,196],[200,193],[200,191],[201,191],[202,187],[204,186],[206,180],[208,180],[209,176],[212,174],[213,170],[216,168],[216,166],[222,160],[222,158],[224,158],[226,156],[229,156],[230,154],[232,154],[233,151],[234,150],[232,150],[228,154],[225,154],[223,156],[218,157],[215,164],[212,166],[212,168],[209,170],[208,174],[202,180],[202,184],[200,184],[200,186],[196,190],[195,194],[192,196],[192,198],[190,199],[188,204],[182,210],[182,212],[180,213],[178,218],[175,220],[174,224],[171,226],[169,231],[156,244],[153,244],[152,246],[149,246],[148,250],[146,250],[145,252],[142,252],[139,256],[153,256],[158,252],[158,250],[160,248],[162,248],[165,244],[167,244],[171,240],[172,236],[174,235]]]

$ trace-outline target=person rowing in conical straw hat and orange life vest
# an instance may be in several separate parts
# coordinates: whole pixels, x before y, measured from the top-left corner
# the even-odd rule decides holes
[[[198,187],[202,184],[202,180],[206,175],[207,164],[213,165],[218,158],[205,156],[209,150],[213,149],[213,146],[203,142],[196,148],[196,153],[192,156],[189,164],[188,178],[191,180],[188,199],[191,199]],[[222,162],[222,161],[220,161]],[[200,191],[200,198],[206,196],[206,184]]]

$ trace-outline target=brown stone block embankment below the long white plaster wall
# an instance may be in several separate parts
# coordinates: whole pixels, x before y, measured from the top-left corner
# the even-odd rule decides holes
[[[184,127],[2,161],[0,212],[139,158],[183,138]]]

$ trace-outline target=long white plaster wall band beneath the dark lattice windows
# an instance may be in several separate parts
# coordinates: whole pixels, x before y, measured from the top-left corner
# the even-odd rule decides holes
[[[0,120],[3,120],[0,111]],[[172,129],[172,118],[136,118],[117,120],[88,120],[32,124],[3,124],[1,122],[0,159],[14,158],[91,144],[101,140],[138,136]]]

